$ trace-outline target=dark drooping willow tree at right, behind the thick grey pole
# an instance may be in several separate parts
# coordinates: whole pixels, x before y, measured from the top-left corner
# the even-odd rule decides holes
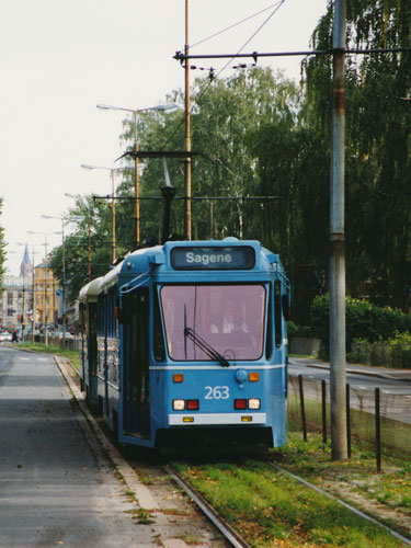
[[[317,26],[315,49],[331,48],[332,7]],[[408,0],[353,0],[347,48],[411,46]],[[310,59],[307,122],[330,135],[331,56]],[[346,253],[353,296],[401,307],[411,279],[411,54],[346,59]],[[329,155],[326,146],[324,153]]]

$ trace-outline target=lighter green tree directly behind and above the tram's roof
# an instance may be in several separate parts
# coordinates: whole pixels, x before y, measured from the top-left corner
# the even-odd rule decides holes
[[[274,189],[269,183],[262,185],[256,162],[259,150],[254,139],[255,132],[269,124],[286,123],[292,127],[295,121],[299,92],[293,82],[270,69],[255,68],[238,71],[226,79],[210,82],[208,79],[195,80],[192,89],[192,149],[201,152],[193,159],[192,205],[193,238],[216,238],[237,236],[254,237],[272,244],[272,227],[269,216],[275,216],[275,202],[254,203],[240,199],[261,193],[272,195]],[[181,92],[168,98],[183,104]],[[183,150],[184,113],[161,116],[157,113],[139,116],[137,135],[141,149]],[[288,129],[287,129],[288,130]],[[125,121],[125,142],[133,146],[134,127],[130,119]],[[168,161],[171,182],[176,189],[173,205],[173,231],[183,231],[183,208],[179,199],[184,194],[182,160]],[[145,162],[141,181],[141,195],[159,195],[164,184],[161,160]],[[287,184],[285,184],[287,186]],[[128,191],[132,186],[128,184]],[[209,201],[207,197],[219,197]],[[214,205],[214,226],[210,227],[210,204]],[[145,217],[145,212],[149,212]],[[266,229],[262,222],[264,212]],[[151,232],[152,222],[158,218],[159,207],[152,202],[141,199],[141,230]]]

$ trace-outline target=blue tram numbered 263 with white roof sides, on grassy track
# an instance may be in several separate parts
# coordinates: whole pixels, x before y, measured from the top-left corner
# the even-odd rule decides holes
[[[282,445],[288,305],[258,241],[137,250],[80,293],[87,398],[125,444]]]

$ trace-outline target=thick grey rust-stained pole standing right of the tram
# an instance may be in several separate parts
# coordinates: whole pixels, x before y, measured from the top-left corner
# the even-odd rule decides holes
[[[334,0],[330,196],[330,396],[331,456],[347,458],[345,414],[345,18],[346,0]]]

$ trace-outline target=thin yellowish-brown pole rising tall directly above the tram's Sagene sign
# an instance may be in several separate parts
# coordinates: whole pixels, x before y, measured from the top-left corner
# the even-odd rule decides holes
[[[184,53],[189,52],[189,0],[185,0],[185,46]],[[184,148],[191,152],[191,130],[190,130],[190,60],[185,58],[185,139]],[[189,240],[192,239],[191,220],[191,156],[187,155],[184,162],[184,232]]]

